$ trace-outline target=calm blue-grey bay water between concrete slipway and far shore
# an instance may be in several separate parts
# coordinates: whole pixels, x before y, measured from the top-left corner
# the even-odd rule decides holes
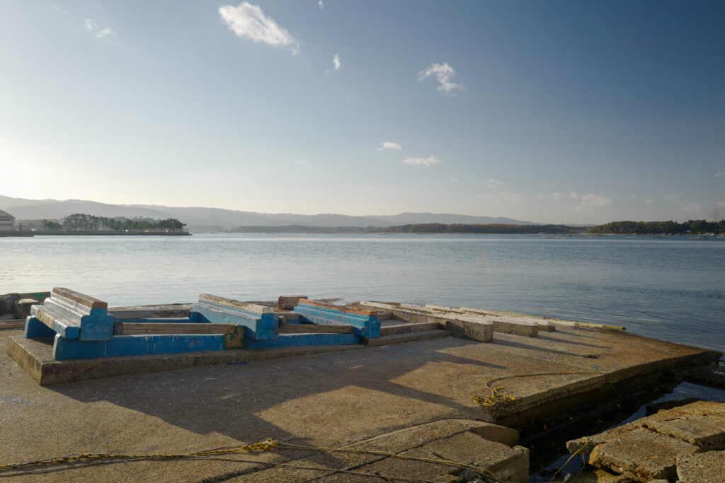
[[[0,238],[0,293],[111,305],[281,294],[473,306],[624,325],[725,350],[725,240],[502,235]]]

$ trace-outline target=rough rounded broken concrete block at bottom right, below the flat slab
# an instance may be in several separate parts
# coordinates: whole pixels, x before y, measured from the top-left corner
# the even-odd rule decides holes
[[[689,442],[635,429],[603,445],[589,455],[589,464],[599,469],[628,476],[637,482],[650,479],[672,479],[679,455],[697,453],[699,448]]]

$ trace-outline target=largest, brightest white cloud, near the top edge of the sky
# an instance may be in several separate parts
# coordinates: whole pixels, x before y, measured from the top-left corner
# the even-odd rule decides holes
[[[262,12],[259,5],[244,1],[239,7],[223,5],[219,7],[219,16],[234,35],[249,38],[254,42],[268,43],[274,47],[287,47],[292,54],[299,54],[299,41],[285,28],[280,27]]]

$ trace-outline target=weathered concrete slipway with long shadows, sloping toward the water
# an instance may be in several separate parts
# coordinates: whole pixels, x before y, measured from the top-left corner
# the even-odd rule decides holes
[[[481,454],[473,458],[465,452],[478,444],[470,439],[480,434],[497,441],[492,444],[498,450],[506,445],[503,450],[520,456],[521,447],[508,448],[515,444],[515,433],[481,421],[535,432],[571,416],[586,416],[597,403],[650,390],[668,370],[710,364],[721,356],[615,330],[557,327],[538,337],[496,333],[492,343],[442,337],[344,346],[328,353],[260,350],[240,356],[245,351],[239,351],[217,365],[41,386],[7,356],[9,337],[16,335],[22,331],[0,330],[0,465],[78,453],[188,453],[269,437],[473,463]],[[496,377],[553,372],[588,374],[532,375],[497,383],[515,396],[512,403],[482,407],[471,398],[486,395],[486,382]],[[585,427],[581,431],[587,434]],[[450,481],[441,475],[455,470],[369,453],[290,448],[211,458],[123,461],[9,479],[382,481],[328,470],[347,469]],[[263,463],[270,461],[307,469]],[[499,473],[502,479],[521,481],[521,468],[514,466],[509,474]]]

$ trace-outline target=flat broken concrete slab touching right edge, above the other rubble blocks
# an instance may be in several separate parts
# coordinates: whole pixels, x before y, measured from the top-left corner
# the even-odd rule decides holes
[[[725,418],[685,416],[666,421],[646,421],[644,427],[659,434],[691,442],[703,451],[725,450]]]

